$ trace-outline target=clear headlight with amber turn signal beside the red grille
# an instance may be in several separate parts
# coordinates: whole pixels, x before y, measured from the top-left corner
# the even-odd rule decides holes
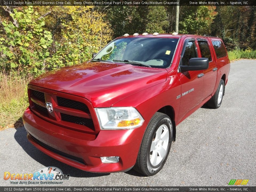
[[[133,129],[144,122],[133,107],[95,108],[101,129]]]

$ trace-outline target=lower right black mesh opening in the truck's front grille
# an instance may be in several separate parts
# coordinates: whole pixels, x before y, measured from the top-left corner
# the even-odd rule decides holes
[[[83,118],[83,117],[76,117],[76,116],[73,116],[73,115],[67,115],[67,114],[61,113],[61,120],[71,122],[71,123],[76,123],[76,124],[79,124],[79,125],[84,125],[86,127],[89,127],[90,129],[94,128],[92,119],[87,119],[87,118]]]

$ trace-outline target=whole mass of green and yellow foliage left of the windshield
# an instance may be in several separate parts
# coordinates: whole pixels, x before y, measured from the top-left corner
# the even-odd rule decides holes
[[[37,9],[45,11],[45,7]],[[0,26],[0,55],[7,61],[0,60],[1,68],[38,75],[87,61],[111,39],[108,23],[92,7],[54,7],[52,11],[59,15],[53,28],[51,18],[42,18],[32,6],[13,9],[10,16],[18,26],[9,20]]]

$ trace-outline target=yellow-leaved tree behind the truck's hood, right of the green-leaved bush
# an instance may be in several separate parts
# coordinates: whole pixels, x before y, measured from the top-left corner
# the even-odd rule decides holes
[[[53,10],[58,15],[53,26],[52,57],[49,69],[82,63],[111,40],[110,25],[93,6],[64,6]]]

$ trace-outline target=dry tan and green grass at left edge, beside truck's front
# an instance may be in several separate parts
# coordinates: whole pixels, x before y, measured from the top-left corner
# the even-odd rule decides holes
[[[29,78],[0,73],[0,130],[22,126],[22,114],[29,105]]]

